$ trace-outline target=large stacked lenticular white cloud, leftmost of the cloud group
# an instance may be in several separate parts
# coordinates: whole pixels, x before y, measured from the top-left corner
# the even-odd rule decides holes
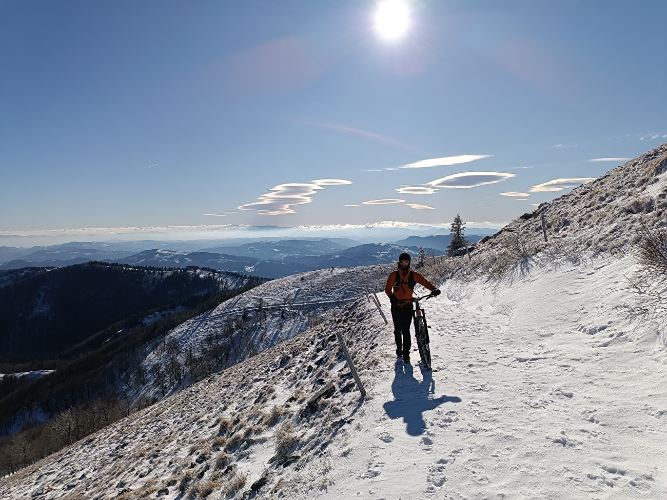
[[[296,213],[291,207],[313,201],[312,195],[324,189],[323,185],[346,185],[351,181],[343,179],[319,179],[310,183],[285,183],[269,189],[269,193],[261,195],[259,201],[246,203],[237,207],[239,210],[257,210],[259,215],[285,215]]]

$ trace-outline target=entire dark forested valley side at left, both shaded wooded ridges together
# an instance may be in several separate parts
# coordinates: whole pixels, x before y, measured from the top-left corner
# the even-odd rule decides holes
[[[55,373],[0,377],[2,433],[113,397],[145,343],[265,281],[212,269],[99,262],[8,278],[0,289],[0,374]]]

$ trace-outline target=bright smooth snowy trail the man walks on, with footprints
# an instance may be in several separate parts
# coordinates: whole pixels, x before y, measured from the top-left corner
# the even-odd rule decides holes
[[[417,351],[412,365],[394,362],[388,325],[358,433],[370,442],[354,447],[366,469],[335,471],[323,496],[664,498],[662,351],[609,307],[627,265],[538,273],[509,297],[478,289],[428,301],[432,373]]]

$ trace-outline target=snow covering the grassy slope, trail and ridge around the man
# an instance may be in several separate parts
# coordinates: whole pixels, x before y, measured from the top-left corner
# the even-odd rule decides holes
[[[569,221],[550,235],[588,250],[542,251],[494,278],[445,280],[424,268],[443,292],[423,304],[432,371],[416,351],[410,364],[396,358],[391,321],[366,293],[366,285],[377,292],[390,317],[382,289],[392,266],[276,279],[169,335],[185,342],[261,299],[295,312],[277,345],[1,480],[0,498],[231,499],[262,477],[248,497],[666,498],[667,320],[624,313],[640,265],[628,251],[631,231],[617,227],[648,215],[623,211],[634,195],[613,174],[602,179],[550,205],[550,221],[554,212]],[[618,193],[613,213],[594,212],[591,223],[586,193],[604,187]],[[516,221],[472,263],[502,252],[502,238],[520,230],[538,245],[539,221],[521,229],[533,223]],[[338,307],[307,329],[299,311],[313,301]],[[307,402],[329,382],[336,390],[312,411]]]

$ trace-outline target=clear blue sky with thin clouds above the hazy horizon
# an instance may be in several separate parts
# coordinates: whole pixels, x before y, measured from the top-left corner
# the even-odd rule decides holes
[[[500,227],[667,141],[666,2],[405,4],[0,0],[0,235]]]

